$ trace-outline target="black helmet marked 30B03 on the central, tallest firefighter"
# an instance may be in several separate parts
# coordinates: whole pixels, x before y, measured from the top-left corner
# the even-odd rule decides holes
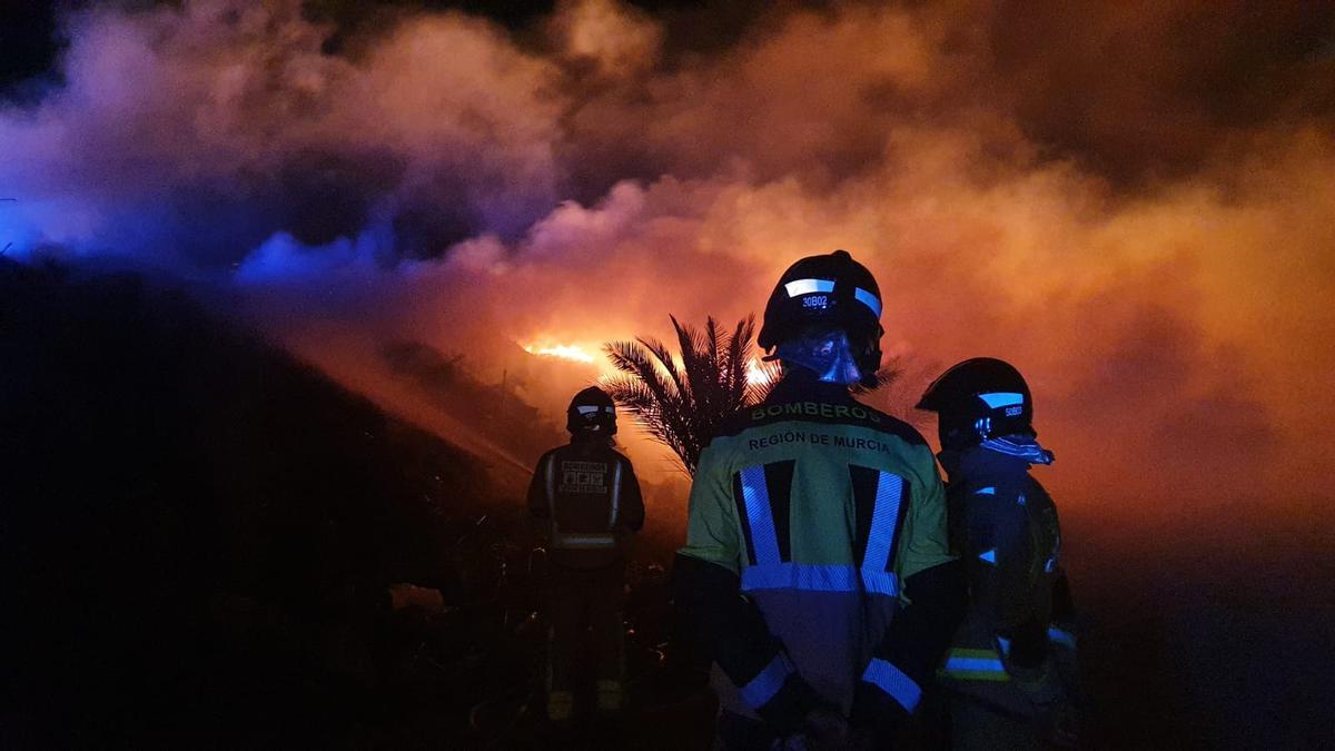
[[[864,381],[881,367],[881,287],[846,250],[809,255],[788,267],[765,305],[762,350],[829,326],[848,334]]]

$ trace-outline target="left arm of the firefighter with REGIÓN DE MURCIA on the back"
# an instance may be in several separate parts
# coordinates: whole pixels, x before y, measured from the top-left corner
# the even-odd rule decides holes
[[[781,735],[822,702],[789,661],[765,617],[741,593],[740,539],[732,478],[706,449],[690,490],[686,547],[676,560],[674,597],[741,698]]]

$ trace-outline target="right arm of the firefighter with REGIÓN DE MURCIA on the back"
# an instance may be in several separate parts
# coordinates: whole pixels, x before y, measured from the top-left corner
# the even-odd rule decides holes
[[[882,743],[898,734],[917,707],[968,604],[964,569],[949,549],[945,492],[934,468],[914,489],[917,497],[910,496],[898,531],[902,607],[873,651],[850,715],[860,732]]]

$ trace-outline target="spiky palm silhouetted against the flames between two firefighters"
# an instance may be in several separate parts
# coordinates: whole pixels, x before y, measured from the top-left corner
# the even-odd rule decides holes
[[[625,376],[609,380],[606,389],[677,454],[688,474],[694,474],[700,452],[724,418],[764,400],[773,388],[774,370],[762,367],[769,377],[748,378],[753,373],[754,315],[738,321],[730,333],[713,317],[705,319],[704,330],[669,318],[681,354],[674,357],[668,345],[649,337],[609,342],[603,351]]]

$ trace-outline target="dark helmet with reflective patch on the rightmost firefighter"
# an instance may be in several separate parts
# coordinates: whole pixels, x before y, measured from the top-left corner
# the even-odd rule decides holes
[[[937,413],[937,436],[944,449],[967,449],[1003,436],[1039,434],[1024,376],[1011,363],[991,357],[965,359],[948,369],[926,388],[917,408]]]

